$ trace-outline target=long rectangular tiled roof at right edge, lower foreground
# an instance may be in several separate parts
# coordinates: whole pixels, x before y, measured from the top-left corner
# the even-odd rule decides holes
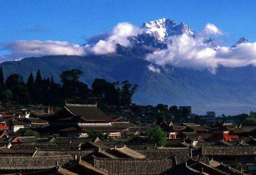
[[[256,146],[202,146],[202,155],[256,155]]]

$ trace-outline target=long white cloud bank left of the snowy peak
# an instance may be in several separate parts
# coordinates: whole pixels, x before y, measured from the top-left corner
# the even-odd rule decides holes
[[[24,57],[42,57],[47,55],[78,55],[114,53],[116,44],[130,46],[127,37],[136,36],[143,30],[127,22],[119,23],[111,31],[93,37],[94,43],[81,46],[62,41],[15,41],[0,43],[0,50],[9,51],[9,54],[0,56],[0,62],[19,60]]]

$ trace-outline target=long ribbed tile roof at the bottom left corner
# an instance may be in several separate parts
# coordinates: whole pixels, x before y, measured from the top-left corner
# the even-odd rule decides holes
[[[72,156],[55,157],[0,157],[0,169],[49,169],[68,164],[73,160]]]

